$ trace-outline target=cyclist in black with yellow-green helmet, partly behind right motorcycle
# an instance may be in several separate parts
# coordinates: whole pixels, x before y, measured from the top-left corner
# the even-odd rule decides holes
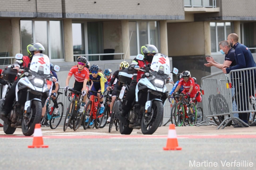
[[[114,85],[114,90],[121,90],[122,89],[122,84],[121,82],[119,82],[119,76],[118,76],[118,73],[119,71],[122,69],[122,68],[128,68],[129,67],[129,63],[127,62],[121,62],[120,65],[119,65],[119,70],[115,71],[112,78],[111,78],[111,81],[109,82],[108,84],[108,88],[107,90],[110,90],[111,89],[111,86],[114,82],[115,79],[117,79],[117,82],[116,84]],[[110,115],[112,113],[112,108],[113,108],[113,105],[114,105],[114,101],[116,100],[117,98],[117,92],[116,91],[113,91],[112,93],[112,101],[110,103],[110,114],[108,115],[108,120],[107,122],[109,123],[110,122]]]

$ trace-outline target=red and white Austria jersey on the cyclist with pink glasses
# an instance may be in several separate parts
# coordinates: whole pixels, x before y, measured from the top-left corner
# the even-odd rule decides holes
[[[85,79],[89,80],[90,72],[86,67],[84,67],[84,69],[80,71],[77,66],[73,66],[69,70],[68,75],[72,76],[73,74],[77,82],[83,82]]]

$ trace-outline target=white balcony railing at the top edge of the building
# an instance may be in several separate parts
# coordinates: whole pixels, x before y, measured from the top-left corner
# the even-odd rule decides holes
[[[184,0],[184,6],[216,8],[216,0]]]

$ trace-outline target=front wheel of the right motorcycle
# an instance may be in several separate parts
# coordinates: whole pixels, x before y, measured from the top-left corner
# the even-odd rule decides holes
[[[141,130],[144,135],[152,135],[156,132],[163,118],[164,107],[163,103],[157,100],[152,102],[151,113],[149,117],[142,117]]]

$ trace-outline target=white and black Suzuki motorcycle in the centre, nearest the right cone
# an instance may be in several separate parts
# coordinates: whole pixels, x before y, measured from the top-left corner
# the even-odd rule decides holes
[[[144,56],[138,54],[138,60],[143,60]],[[163,119],[163,104],[168,98],[168,91],[165,86],[165,80],[170,80],[170,60],[164,54],[156,54],[153,57],[152,64],[148,64],[146,68],[134,68],[145,72],[144,77],[139,79],[136,86],[136,97],[133,107],[126,115],[122,117],[119,113],[117,118],[120,120],[120,133],[129,135],[133,129],[141,129],[143,134],[153,134]],[[175,68],[177,74],[177,69]],[[123,80],[126,77],[127,80]],[[128,73],[119,72],[119,81],[128,81],[130,75]],[[119,98],[123,100],[123,93],[128,88],[123,86]],[[120,110],[121,101],[114,108]]]

